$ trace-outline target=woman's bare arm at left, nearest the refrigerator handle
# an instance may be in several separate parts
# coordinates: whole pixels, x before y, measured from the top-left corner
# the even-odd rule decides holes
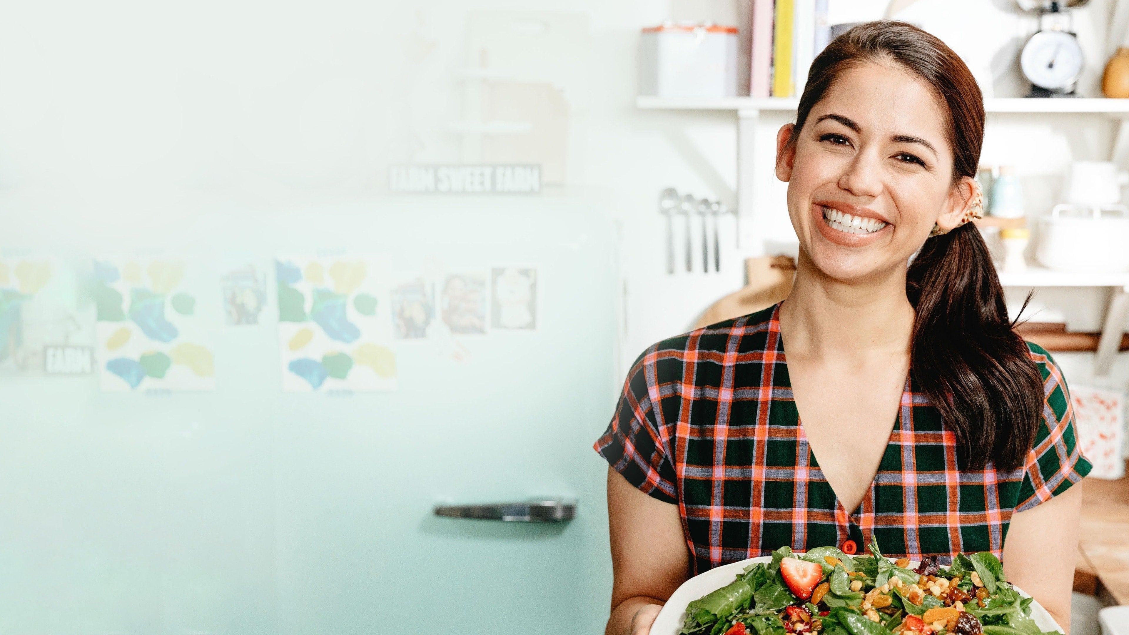
[[[612,615],[605,635],[646,635],[663,602],[690,577],[677,505],[653,498],[607,469]]]

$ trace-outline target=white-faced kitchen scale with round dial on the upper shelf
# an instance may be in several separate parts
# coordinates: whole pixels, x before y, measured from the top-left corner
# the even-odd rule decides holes
[[[1075,92],[1085,58],[1074,33],[1070,9],[1089,0],[1016,0],[1025,11],[1039,14],[1039,31],[1023,45],[1019,68],[1031,82],[1027,97],[1077,97]]]

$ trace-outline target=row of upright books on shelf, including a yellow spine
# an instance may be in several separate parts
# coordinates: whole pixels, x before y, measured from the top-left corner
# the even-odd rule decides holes
[[[750,95],[796,97],[831,38],[828,0],[752,0]]]

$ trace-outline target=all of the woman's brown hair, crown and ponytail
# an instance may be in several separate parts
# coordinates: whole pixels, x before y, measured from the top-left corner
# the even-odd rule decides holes
[[[974,177],[984,134],[980,87],[944,42],[902,21],[860,24],[828,44],[808,71],[788,142],[795,143],[812,107],[843,71],[866,62],[908,70],[933,86],[948,118],[953,185]],[[928,238],[909,266],[905,292],[916,311],[913,379],[956,436],[961,467],[1021,467],[1042,416],[1042,376],[1008,321],[1004,289],[975,226]]]

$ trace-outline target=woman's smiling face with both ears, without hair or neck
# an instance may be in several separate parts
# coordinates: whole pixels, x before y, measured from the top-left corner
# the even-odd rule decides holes
[[[934,224],[952,228],[972,180],[954,186],[953,149],[934,89],[894,67],[843,72],[816,104],[793,149],[777,134],[777,176],[800,250],[843,280],[904,271]]]

